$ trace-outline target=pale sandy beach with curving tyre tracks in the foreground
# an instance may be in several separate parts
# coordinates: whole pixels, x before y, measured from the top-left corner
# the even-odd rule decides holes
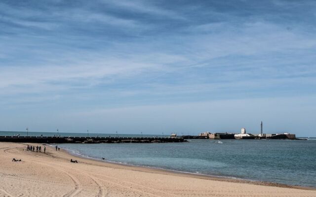
[[[46,154],[25,148],[0,142],[0,197],[316,197],[313,188],[216,180],[76,158],[48,146]],[[70,163],[71,158],[79,164]]]

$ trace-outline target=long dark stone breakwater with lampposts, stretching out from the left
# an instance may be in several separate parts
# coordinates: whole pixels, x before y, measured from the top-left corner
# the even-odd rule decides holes
[[[166,143],[185,141],[182,137],[0,136],[0,142],[19,143]]]

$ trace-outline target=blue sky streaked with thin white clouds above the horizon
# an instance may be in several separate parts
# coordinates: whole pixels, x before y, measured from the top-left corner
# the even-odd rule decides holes
[[[1,0],[0,131],[316,136],[315,0]]]

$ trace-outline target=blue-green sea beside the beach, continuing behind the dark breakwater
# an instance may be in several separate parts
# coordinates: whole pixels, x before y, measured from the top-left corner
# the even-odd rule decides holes
[[[0,131],[0,135],[26,132]],[[29,132],[35,136],[56,132]],[[87,136],[87,133],[59,133]],[[151,137],[162,135],[101,134],[89,136]],[[165,137],[166,135],[164,135]],[[183,143],[60,144],[70,153],[100,161],[161,168],[253,181],[316,187],[316,138],[282,139],[189,139]],[[105,160],[102,160],[105,158]]]

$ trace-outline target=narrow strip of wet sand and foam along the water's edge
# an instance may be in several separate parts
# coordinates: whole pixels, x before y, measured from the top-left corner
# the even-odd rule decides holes
[[[46,144],[48,145],[48,144]],[[56,144],[58,145],[58,144]],[[48,145],[50,146],[50,145]],[[54,147],[54,146],[51,146]],[[288,185],[288,184],[282,184],[282,183],[276,183],[276,182],[269,182],[269,181],[258,181],[258,180],[250,180],[250,179],[242,179],[237,177],[227,177],[227,176],[218,176],[218,175],[212,175],[212,174],[201,174],[201,173],[194,173],[194,172],[186,172],[186,171],[179,171],[179,170],[172,170],[172,169],[165,169],[165,168],[159,168],[159,167],[153,167],[153,166],[144,166],[144,165],[136,165],[136,164],[125,164],[125,163],[119,163],[109,160],[101,160],[93,157],[84,156],[79,153],[75,153],[74,150],[62,148],[65,150],[69,155],[80,158],[80,159],[87,159],[92,160],[100,163],[107,163],[107,164],[114,164],[114,165],[121,165],[126,167],[135,167],[139,168],[141,171],[147,171],[144,169],[149,170],[157,170],[157,173],[167,172],[167,173],[174,173],[174,174],[183,174],[183,175],[189,175],[194,178],[201,178],[201,179],[208,179],[208,180],[216,180],[216,181],[225,181],[225,182],[234,182],[234,183],[246,183],[246,184],[252,184],[252,185],[262,185],[262,186],[270,186],[270,187],[280,187],[280,188],[293,188],[293,189],[302,189],[302,190],[315,190],[316,187],[309,187],[309,186],[300,186],[300,185]]]

